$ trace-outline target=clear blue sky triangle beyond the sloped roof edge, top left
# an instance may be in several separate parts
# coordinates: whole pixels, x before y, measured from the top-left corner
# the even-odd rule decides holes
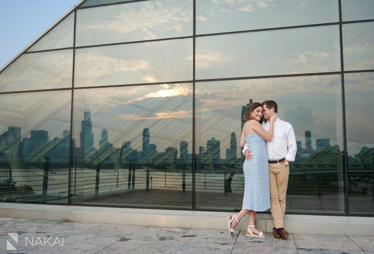
[[[79,0],[0,0],[0,68]]]

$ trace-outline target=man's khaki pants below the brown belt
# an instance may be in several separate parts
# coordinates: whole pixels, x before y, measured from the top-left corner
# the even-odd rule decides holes
[[[283,218],[286,210],[286,192],[288,185],[289,165],[269,163],[270,212],[273,216],[273,227],[284,227]]]

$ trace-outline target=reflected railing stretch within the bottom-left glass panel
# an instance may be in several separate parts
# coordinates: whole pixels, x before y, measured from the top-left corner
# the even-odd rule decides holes
[[[67,203],[68,157],[10,155],[0,160],[0,200]]]

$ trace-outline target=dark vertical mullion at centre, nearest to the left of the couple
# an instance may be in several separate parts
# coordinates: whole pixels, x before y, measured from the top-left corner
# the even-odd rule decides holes
[[[193,0],[193,63],[192,63],[192,80],[193,80],[193,91],[192,91],[192,210],[196,210],[196,192],[195,192],[195,170],[196,170],[196,139],[195,139],[195,108],[196,108],[196,99],[195,99],[195,52],[196,52],[196,0]]]

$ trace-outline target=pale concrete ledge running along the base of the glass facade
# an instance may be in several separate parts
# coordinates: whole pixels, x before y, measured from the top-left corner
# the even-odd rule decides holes
[[[228,213],[223,212],[16,203],[1,203],[0,205],[0,217],[199,229],[228,229]],[[373,217],[286,214],[284,222],[286,230],[296,234],[374,236]],[[246,230],[247,225],[248,217],[244,217],[237,229]],[[258,229],[264,232],[272,232],[273,220],[271,214],[257,214],[256,225]]]

